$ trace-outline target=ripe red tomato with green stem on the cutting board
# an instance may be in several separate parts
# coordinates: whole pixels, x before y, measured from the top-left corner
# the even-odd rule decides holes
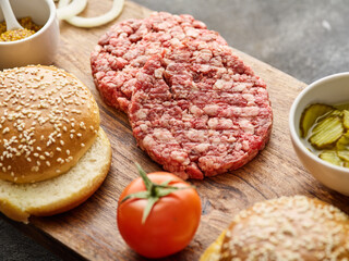
[[[121,194],[118,206],[118,226],[127,244],[147,258],[161,258],[185,248],[193,238],[201,217],[201,200],[193,187],[167,172],[149,173],[155,184],[171,179],[170,186],[186,187],[161,197],[142,224],[148,199],[128,199],[130,194],[145,191],[141,177],[134,179]]]

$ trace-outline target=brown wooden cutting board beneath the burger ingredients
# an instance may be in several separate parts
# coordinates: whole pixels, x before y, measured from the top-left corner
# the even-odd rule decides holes
[[[110,5],[110,1],[107,5],[106,1],[88,1],[88,10],[84,14],[96,15],[107,11]],[[145,8],[127,2],[118,21],[142,18],[149,13]],[[89,53],[110,25],[84,29],[62,22],[60,49],[55,62],[55,65],[82,79],[99,104],[101,125],[112,146],[112,165],[107,179],[92,198],[72,211],[51,217],[33,217],[29,225],[9,221],[68,260],[143,260],[128,248],[118,232],[117,201],[122,189],[137,177],[134,162],[140,162],[147,172],[160,170],[159,165],[137,148],[125,114],[107,107],[94,86]],[[165,260],[198,260],[204,249],[214,241],[236,213],[265,199],[300,194],[317,197],[349,212],[349,198],[316,182],[302,167],[293,152],[289,138],[288,113],[293,99],[305,84],[245,53],[238,50],[234,52],[268,86],[274,111],[270,141],[242,169],[192,182],[203,201],[200,227],[183,251]]]

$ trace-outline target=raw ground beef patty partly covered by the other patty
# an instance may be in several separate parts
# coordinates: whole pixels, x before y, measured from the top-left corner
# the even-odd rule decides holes
[[[227,46],[218,33],[191,15],[153,13],[111,27],[91,57],[94,80],[104,100],[127,112],[139,70],[152,55],[184,39]]]

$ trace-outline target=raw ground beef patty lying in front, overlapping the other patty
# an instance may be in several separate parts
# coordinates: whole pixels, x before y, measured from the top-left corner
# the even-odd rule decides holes
[[[140,147],[185,179],[248,163],[273,114],[265,84],[230,48],[184,40],[140,71],[129,119]]]

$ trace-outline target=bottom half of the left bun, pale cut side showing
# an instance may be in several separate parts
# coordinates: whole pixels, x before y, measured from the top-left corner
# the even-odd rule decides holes
[[[34,184],[0,181],[0,212],[28,223],[31,215],[47,216],[71,210],[91,197],[106,178],[111,147],[103,128],[92,147],[67,173]]]

